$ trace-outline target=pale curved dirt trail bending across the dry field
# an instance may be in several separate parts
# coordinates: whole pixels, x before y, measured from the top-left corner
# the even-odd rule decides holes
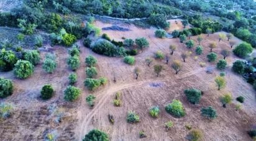
[[[197,73],[200,73],[201,71],[206,71],[209,68],[216,68],[216,66],[210,66],[208,68],[200,68],[198,70],[190,71],[188,73],[185,73],[183,76],[178,76],[178,78],[175,78],[175,80],[179,80],[179,79],[186,78],[188,76],[196,75]],[[104,106],[107,99],[110,98],[111,94],[115,93],[116,91],[121,91],[122,89],[130,88],[130,87],[133,87],[133,86],[140,86],[140,85],[143,85],[145,83],[150,83],[152,81],[168,81],[168,80],[170,80],[170,79],[169,78],[164,78],[164,79],[157,79],[157,80],[152,79],[152,80],[145,80],[145,81],[137,81],[137,82],[129,83],[129,84],[118,84],[118,85],[109,86],[108,88],[105,88],[102,91],[99,91],[99,93],[100,93],[99,96],[101,96],[101,95],[103,95],[103,96],[97,102],[98,104],[96,104],[94,106],[94,109],[92,109],[88,114],[86,114],[86,116],[83,118],[83,121],[80,123],[79,140],[83,139],[84,135],[86,134],[86,130],[88,128],[89,122],[91,122],[91,119],[99,111],[99,109],[101,109],[101,107]],[[81,107],[80,110],[82,112],[82,115],[85,115],[85,112],[83,112],[83,108],[84,107]]]

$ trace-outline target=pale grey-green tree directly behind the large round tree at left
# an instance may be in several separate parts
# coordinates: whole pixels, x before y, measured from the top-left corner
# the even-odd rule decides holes
[[[33,65],[37,65],[40,62],[40,54],[37,50],[28,50],[24,52],[24,60],[30,61]]]

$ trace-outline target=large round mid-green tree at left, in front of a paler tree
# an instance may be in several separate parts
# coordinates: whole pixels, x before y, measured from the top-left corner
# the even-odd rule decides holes
[[[25,79],[34,73],[34,66],[26,60],[18,60],[14,65],[14,75],[17,78]]]

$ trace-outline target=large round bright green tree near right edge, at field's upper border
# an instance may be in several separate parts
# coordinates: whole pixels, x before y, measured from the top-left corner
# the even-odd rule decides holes
[[[252,45],[250,43],[240,43],[235,49],[233,50],[234,54],[237,55],[237,57],[246,57],[249,53],[252,53]]]

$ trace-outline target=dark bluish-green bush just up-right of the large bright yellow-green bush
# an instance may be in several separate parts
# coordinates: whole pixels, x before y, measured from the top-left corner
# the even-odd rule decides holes
[[[199,89],[185,89],[184,93],[192,104],[198,104],[202,95]]]

